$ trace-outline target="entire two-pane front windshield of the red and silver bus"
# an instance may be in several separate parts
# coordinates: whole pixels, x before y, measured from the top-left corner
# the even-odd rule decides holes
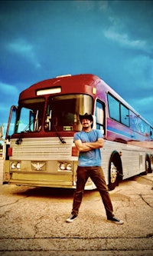
[[[78,131],[79,115],[92,113],[93,98],[89,95],[58,95],[31,98],[19,102],[15,133],[41,131]]]

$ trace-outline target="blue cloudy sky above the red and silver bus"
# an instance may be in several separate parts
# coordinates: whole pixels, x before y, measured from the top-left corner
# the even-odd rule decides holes
[[[37,81],[103,78],[153,125],[152,1],[1,1],[0,124]]]

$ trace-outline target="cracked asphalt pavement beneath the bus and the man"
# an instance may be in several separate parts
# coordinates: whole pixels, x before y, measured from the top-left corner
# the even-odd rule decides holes
[[[70,214],[73,190],[0,185],[2,256],[153,256],[153,174],[110,191],[123,225],[106,221],[98,191],[85,191],[80,214]]]

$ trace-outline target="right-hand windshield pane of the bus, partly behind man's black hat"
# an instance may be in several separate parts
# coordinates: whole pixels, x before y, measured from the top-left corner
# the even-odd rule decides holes
[[[77,131],[79,115],[92,113],[93,98],[89,95],[50,96],[47,101],[45,131]]]

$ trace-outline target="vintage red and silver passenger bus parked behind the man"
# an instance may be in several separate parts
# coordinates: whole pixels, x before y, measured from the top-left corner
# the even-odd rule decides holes
[[[153,169],[153,127],[96,75],[39,81],[11,106],[5,135],[3,184],[75,188],[79,115],[93,115],[103,133],[102,168],[109,190]],[[85,189],[95,189],[89,178]]]

